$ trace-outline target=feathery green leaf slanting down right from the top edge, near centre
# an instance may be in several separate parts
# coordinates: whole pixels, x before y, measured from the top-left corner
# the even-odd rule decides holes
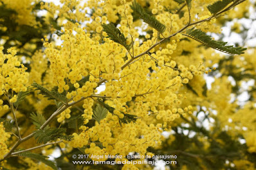
[[[140,19],[143,19],[143,21],[149,24],[152,28],[158,30],[160,33],[165,31],[165,25],[161,24],[161,22],[159,22],[153,15],[146,13],[142,6],[135,0],[133,1],[133,5],[131,5],[131,9],[136,15],[138,15],[138,17],[140,17]]]

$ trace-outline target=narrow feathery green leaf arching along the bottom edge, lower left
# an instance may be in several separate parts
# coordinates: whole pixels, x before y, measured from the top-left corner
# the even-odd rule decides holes
[[[57,168],[57,166],[54,162],[46,159],[46,158],[49,158],[49,157],[39,155],[39,154],[36,154],[36,153],[31,153],[31,152],[18,153],[17,156],[27,157],[27,158],[32,158],[32,159],[38,160],[39,162],[42,162],[42,163],[46,164],[47,166],[50,166],[52,169],[58,170],[58,168]]]

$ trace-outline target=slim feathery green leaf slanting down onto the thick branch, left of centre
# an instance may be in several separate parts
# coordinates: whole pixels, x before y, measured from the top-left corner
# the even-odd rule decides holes
[[[61,101],[62,103],[66,103],[68,101],[66,96],[60,94],[55,90],[50,91],[37,83],[33,83],[32,86],[35,87],[37,90],[40,90],[39,94],[42,94],[44,97],[48,99],[55,99],[57,101]]]

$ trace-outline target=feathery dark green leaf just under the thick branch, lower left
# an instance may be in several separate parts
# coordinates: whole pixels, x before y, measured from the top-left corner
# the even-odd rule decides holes
[[[35,133],[33,133],[35,139],[37,139],[38,143],[44,143],[46,144],[50,140],[57,140],[57,139],[63,139],[63,140],[71,140],[73,136],[71,135],[62,135],[66,133],[65,128],[48,128],[44,130],[37,130]]]

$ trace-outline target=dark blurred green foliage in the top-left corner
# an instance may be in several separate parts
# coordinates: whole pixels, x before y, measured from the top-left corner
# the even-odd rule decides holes
[[[35,6],[32,10],[33,13],[37,13],[40,10],[40,2],[35,3]],[[5,39],[3,50],[6,53],[6,50],[9,47],[17,47],[17,49],[23,49],[18,51],[18,55],[24,55],[31,57],[37,49],[41,49],[43,35],[46,35],[50,31],[50,26],[48,22],[45,22],[44,16],[36,16],[37,25],[30,26],[25,24],[19,24],[17,22],[18,13],[14,9],[10,9],[6,6],[3,1],[0,3],[0,25],[2,28],[7,28],[6,30],[0,29],[0,38]],[[40,25],[40,26],[39,26]],[[6,37],[8,37],[6,39]],[[14,44],[15,41],[15,44]],[[18,43],[16,43],[18,42]],[[26,44],[33,44],[36,47],[26,48]],[[29,64],[28,64],[29,65]],[[28,67],[28,71],[30,67]]]

